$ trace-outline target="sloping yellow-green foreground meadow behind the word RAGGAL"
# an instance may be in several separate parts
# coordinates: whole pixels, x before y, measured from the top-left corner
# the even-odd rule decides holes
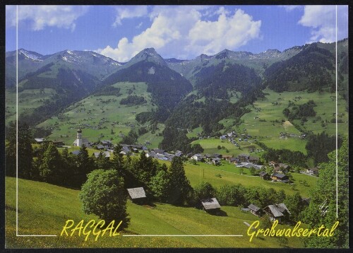
[[[19,235],[55,237],[16,237],[16,179],[6,178],[6,248],[50,247],[283,247],[272,237],[254,237],[249,242],[247,226],[257,219],[237,207],[222,206],[225,216],[212,216],[196,208],[156,203],[154,208],[128,202],[131,224],[116,237],[88,237],[75,233],[60,236],[68,219],[95,219],[81,210],[79,191],[42,182],[18,180]],[[28,201],[30,200],[30,201]],[[222,225],[220,225],[222,224]],[[279,228],[289,228],[279,225]],[[125,235],[125,236],[124,236]],[[241,237],[128,237],[126,235],[242,235]],[[304,247],[300,238],[291,237],[287,247]]]

